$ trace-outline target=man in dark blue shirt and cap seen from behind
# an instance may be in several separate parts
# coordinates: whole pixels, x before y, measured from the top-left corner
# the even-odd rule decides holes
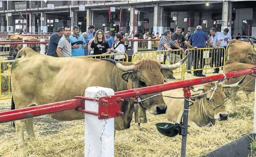
[[[196,29],[197,29],[197,32],[193,33],[190,36],[190,39],[188,40],[188,42],[186,42],[187,48],[188,49],[204,48],[206,46],[205,45],[206,41],[215,48],[212,41],[208,37],[207,33],[202,31],[203,27],[199,25],[196,27]],[[194,76],[204,77],[205,75],[203,75],[203,70],[197,70],[199,60],[200,60],[199,69],[203,69],[203,66],[205,64],[205,60],[203,59],[203,50],[199,49],[194,51],[194,53],[192,53],[192,58],[193,58],[193,66],[194,66],[194,71],[193,71]]]

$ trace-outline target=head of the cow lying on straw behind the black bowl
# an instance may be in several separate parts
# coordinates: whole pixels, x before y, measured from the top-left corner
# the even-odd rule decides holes
[[[203,91],[202,93],[205,93],[207,91],[210,91],[211,88],[215,86],[215,83],[207,83],[203,84],[202,87],[194,89],[194,91]],[[225,109],[222,102],[225,100],[226,95],[222,91],[222,84],[217,85],[217,88],[215,92],[210,91],[206,93],[205,95],[199,95],[198,97],[192,98],[192,100],[197,101],[199,100],[199,106],[203,112],[203,114],[207,117],[210,117],[210,119],[216,119],[216,120],[226,120],[228,119],[228,112]]]

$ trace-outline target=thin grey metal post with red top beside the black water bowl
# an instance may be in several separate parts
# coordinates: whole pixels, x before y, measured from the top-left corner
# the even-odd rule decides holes
[[[184,91],[184,112],[183,112],[183,125],[181,126],[181,157],[186,156],[186,144],[187,144],[187,126],[188,126],[188,111],[189,111],[189,99],[191,96],[190,87],[183,88]]]

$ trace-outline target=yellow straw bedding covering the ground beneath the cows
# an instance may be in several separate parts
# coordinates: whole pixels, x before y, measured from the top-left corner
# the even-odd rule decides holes
[[[208,74],[211,75],[211,74]],[[176,76],[179,77],[178,75]],[[192,78],[186,74],[186,79]],[[242,91],[237,95],[238,112],[227,121],[214,126],[190,126],[187,137],[187,157],[200,157],[223,144],[253,130],[254,93],[247,100]],[[0,101],[0,111],[9,110],[10,100]],[[230,100],[226,102],[231,109]],[[147,114],[148,122],[138,126],[131,122],[130,129],[117,131],[115,157],[179,157],[181,136],[165,137],[155,128],[158,122],[168,122],[165,115]],[[84,123],[57,121],[47,115],[34,118],[36,139],[27,139],[23,145],[16,142],[11,123],[0,124],[0,157],[78,157],[84,156]],[[27,133],[25,138],[27,138]],[[250,157],[255,157],[256,142],[250,146]]]

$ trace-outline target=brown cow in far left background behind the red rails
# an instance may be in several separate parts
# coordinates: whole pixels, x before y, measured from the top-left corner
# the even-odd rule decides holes
[[[14,34],[10,36],[10,40],[23,40],[23,38],[27,38],[27,40],[37,40],[35,37],[27,37],[23,35]],[[40,52],[40,46],[38,44],[27,44],[27,47],[30,47],[36,52]],[[16,58],[16,55],[20,49],[23,48],[23,44],[11,44],[10,47],[10,53],[9,56],[14,56],[14,59]]]

